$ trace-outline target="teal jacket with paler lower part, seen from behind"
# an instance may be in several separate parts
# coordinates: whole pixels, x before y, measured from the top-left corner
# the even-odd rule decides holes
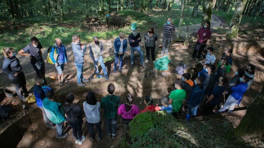
[[[46,112],[47,117],[53,123],[61,123],[66,121],[64,111],[61,107],[61,103],[51,101],[47,97],[42,101],[43,108]]]

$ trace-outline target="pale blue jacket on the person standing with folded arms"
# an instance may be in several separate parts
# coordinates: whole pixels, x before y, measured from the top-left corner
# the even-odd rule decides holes
[[[86,46],[84,45],[83,48],[81,48],[81,45],[79,43],[71,43],[71,48],[74,55],[74,63],[75,64],[82,64],[84,62],[84,51],[86,49]],[[81,51],[82,50],[82,51]]]

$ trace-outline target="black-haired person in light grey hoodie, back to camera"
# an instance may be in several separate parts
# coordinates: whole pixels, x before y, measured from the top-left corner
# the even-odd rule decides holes
[[[85,112],[85,118],[88,123],[91,140],[95,139],[94,125],[98,133],[99,141],[101,141],[103,138],[100,109],[101,109],[100,102],[97,101],[95,97],[95,93],[89,91],[86,96],[86,101],[83,102],[83,110]]]

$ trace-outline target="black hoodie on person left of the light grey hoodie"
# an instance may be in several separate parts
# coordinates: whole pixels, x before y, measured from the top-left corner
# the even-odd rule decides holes
[[[67,121],[70,125],[80,125],[82,124],[82,115],[84,114],[82,108],[76,105],[74,102],[70,106],[66,106],[66,102],[63,104],[63,109],[67,115]]]

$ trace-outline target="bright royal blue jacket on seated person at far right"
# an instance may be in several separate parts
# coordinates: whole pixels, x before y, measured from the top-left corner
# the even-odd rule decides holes
[[[231,96],[235,98],[235,100],[241,100],[244,92],[247,90],[247,83],[241,82],[236,86],[231,87],[232,93]]]

